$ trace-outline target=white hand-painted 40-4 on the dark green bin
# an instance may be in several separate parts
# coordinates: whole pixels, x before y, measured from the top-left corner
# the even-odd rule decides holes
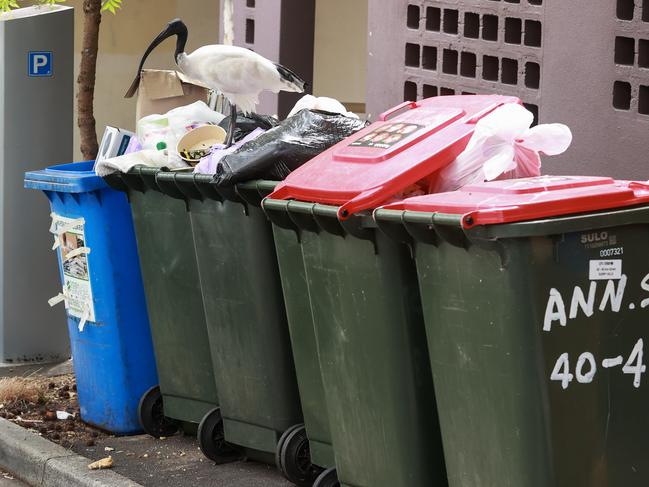
[[[618,355],[617,357],[603,359],[600,365],[603,369],[610,369],[624,364],[622,366],[622,373],[633,376],[633,387],[637,389],[640,387],[642,374],[647,370],[647,366],[643,363],[643,355],[644,343],[642,338],[640,338],[633,347],[633,350],[631,350],[631,354],[626,362],[622,355]],[[575,379],[580,384],[590,384],[597,374],[597,368],[598,364],[593,354],[584,352],[577,359],[575,373],[573,374],[570,368],[570,357],[568,353],[562,353],[554,364],[550,380],[561,382],[561,387],[564,389],[567,389]]]

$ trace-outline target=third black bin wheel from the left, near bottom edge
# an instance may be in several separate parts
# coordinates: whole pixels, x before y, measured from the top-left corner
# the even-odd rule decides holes
[[[288,434],[287,434],[288,433]],[[300,487],[311,487],[321,470],[311,463],[309,439],[303,424],[289,429],[278,445],[280,472]]]

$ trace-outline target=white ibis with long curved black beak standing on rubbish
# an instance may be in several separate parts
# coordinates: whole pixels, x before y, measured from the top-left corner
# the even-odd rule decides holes
[[[167,24],[167,27],[144,52],[138,74],[126,92],[126,98],[132,97],[137,91],[144,62],[151,51],[165,39],[173,36],[177,36],[175,59],[180,70],[190,78],[223,93],[230,102],[227,146],[232,145],[234,139],[237,107],[243,113],[252,112],[259,103],[259,94],[264,90],[273,93],[280,91],[304,93],[306,83],[298,75],[249,49],[213,44],[187,54],[185,52],[187,26],[182,20],[175,19]]]

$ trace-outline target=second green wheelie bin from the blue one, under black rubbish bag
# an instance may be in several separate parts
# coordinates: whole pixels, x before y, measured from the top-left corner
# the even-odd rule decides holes
[[[186,201],[203,290],[220,410],[199,427],[201,448],[209,456],[213,430],[205,425],[222,422],[228,443],[310,486],[319,472],[304,431],[271,224],[261,209],[276,183],[217,187],[211,175],[187,173],[161,174],[158,183]]]

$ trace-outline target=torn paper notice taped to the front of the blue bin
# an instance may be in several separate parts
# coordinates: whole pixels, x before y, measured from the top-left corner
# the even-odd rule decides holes
[[[52,214],[52,233],[58,240],[63,268],[63,296],[70,316],[84,323],[95,321],[95,306],[90,283],[90,268],[83,220]]]

